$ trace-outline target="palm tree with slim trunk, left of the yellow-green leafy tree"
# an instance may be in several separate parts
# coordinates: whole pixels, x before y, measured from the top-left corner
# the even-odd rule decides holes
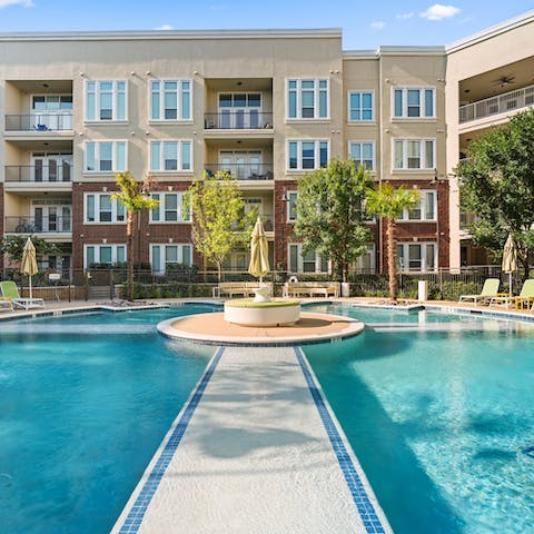
[[[147,191],[150,188],[151,181],[148,178],[145,182],[137,181],[129,171],[118,172],[115,175],[118,192],[111,195],[125,206],[126,209],[126,261],[127,261],[127,284],[128,284],[128,300],[134,300],[134,222],[136,216],[145,209],[151,209],[158,206],[159,200],[147,197]]]

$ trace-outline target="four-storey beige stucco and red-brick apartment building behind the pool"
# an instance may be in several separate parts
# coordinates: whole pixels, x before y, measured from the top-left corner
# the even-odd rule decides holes
[[[344,51],[336,29],[0,36],[0,233],[57,243],[61,255],[42,267],[123,261],[126,216],[111,194],[115,172],[128,169],[152,176],[160,200],[139,218],[136,260],[155,273],[202,267],[184,195],[204,171],[229,170],[246,209],[264,220],[270,264],[323,273],[327,258],[303,255],[293,237],[296,190],[305,172],[340,157],[376,181],[422,191],[398,221],[403,269],[459,267],[457,185],[445,179],[466,134],[458,95],[468,65],[492,70],[491,53],[487,63],[465,56],[528,23],[449,50]],[[526,66],[528,46],[510,63]],[[475,76],[481,87],[493,79]],[[384,228],[369,227],[374,239],[356,267],[384,270]],[[248,253],[235,250],[226,268],[247,266]]]

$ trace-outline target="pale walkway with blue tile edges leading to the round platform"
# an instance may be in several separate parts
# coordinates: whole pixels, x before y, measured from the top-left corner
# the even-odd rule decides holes
[[[389,533],[299,348],[219,348],[113,533]]]

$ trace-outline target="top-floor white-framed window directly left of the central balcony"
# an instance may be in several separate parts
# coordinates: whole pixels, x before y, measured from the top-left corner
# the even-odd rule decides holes
[[[152,80],[150,120],[192,120],[191,80]]]

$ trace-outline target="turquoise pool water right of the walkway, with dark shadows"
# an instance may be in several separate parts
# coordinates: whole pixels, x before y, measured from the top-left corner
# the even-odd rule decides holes
[[[396,534],[534,533],[534,327],[308,309],[377,327],[304,349]]]

